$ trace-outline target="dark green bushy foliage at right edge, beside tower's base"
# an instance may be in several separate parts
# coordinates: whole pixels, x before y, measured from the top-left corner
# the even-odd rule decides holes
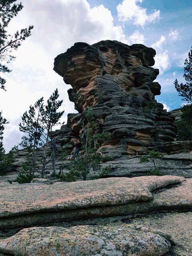
[[[178,128],[177,140],[192,140],[192,104],[184,106],[181,119],[175,121]]]

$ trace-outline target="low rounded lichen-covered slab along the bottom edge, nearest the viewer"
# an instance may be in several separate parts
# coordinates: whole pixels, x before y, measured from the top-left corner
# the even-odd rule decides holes
[[[0,242],[0,251],[20,256],[160,256],[171,248],[162,231],[128,224],[25,228]]]

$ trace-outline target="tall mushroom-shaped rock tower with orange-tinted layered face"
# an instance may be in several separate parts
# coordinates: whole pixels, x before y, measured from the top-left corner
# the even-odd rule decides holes
[[[100,130],[109,132],[116,147],[127,154],[173,141],[176,136],[170,113],[154,100],[161,89],[153,82],[159,70],[150,67],[155,54],[142,44],[107,40],[93,45],[76,43],[55,58],[54,70],[71,84],[68,95],[75,108],[83,113],[92,107]],[[81,122],[80,117],[68,124],[78,133]]]

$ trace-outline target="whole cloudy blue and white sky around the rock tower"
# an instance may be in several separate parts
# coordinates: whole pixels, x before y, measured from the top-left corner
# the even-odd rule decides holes
[[[34,28],[32,35],[12,52],[16,56],[8,64],[12,72],[1,74],[7,81],[7,91],[0,90],[0,110],[9,121],[3,140],[6,152],[26,135],[19,131],[23,113],[39,98],[46,101],[56,88],[63,99],[60,111],[65,110],[61,122],[67,122],[68,113],[77,113],[68,99],[71,86],[52,70],[54,58],[76,42],[117,40],[154,48],[153,67],[160,71],[156,81],[162,87],[156,100],[168,111],[184,103],[173,82],[175,78],[185,82],[184,61],[192,45],[190,0],[21,1],[24,8],[11,20],[8,31],[14,34],[29,25]]]

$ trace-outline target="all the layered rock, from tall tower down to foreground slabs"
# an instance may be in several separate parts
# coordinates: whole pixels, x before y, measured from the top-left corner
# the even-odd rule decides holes
[[[175,141],[181,111],[167,112],[155,100],[161,89],[153,82],[155,54],[142,44],[107,40],[76,43],[55,58],[54,70],[71,84],[69,100],[79,112],[52,132],[56,173],[68,172],[63,152],[74,151],[84,136],[88,107],[95,134],[111,137],[98,152],[113,157],[90,175],[112,169],[99,180],[51,180],[48,145],[45,179],[39,148],[36,178],[19,184],[32,155],[19,150],[0,176],[0,256],[192,256],[192,141]],[[163,176],[148,176],[152,161],[140,163],[151,150],[164,155],[154,160]]]

